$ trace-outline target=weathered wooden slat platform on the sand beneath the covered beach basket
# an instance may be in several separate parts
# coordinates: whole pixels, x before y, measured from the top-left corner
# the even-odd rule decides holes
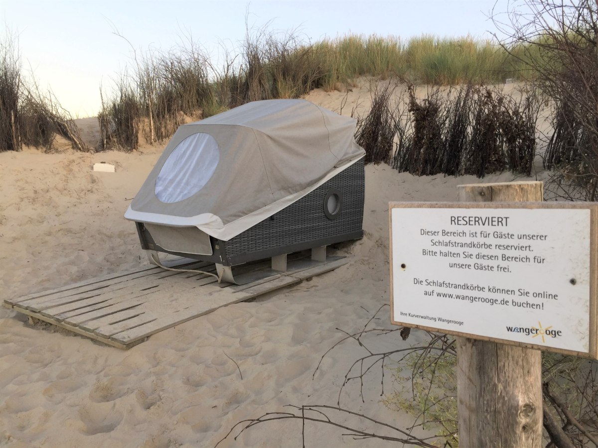
[[[105,275],[18,299],[5,299],[3,305],[79,335],[127,349],[154,333],[222,306],[301,283],[348,261],[338,257],[325,263],[299,260],[295,265],[298,267],[291,271],[244,285],[219,284],[211,275],[198,272],[151,267]],[[214,271],[214,265],[203,262],[177,267]],[[250,269],[259,268],[254,265]],[[269,268],[265,263],[263,269]]]

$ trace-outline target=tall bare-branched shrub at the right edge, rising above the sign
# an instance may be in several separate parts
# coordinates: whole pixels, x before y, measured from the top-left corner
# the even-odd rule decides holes
[[[512,5],[514,7],[515,5]],[[545,167],[548,199],[596,200],[598,185],[598,3],[522,0],[496,26],[501,45],[552,106]],[[521,11],[525,11],[521,14]]]

